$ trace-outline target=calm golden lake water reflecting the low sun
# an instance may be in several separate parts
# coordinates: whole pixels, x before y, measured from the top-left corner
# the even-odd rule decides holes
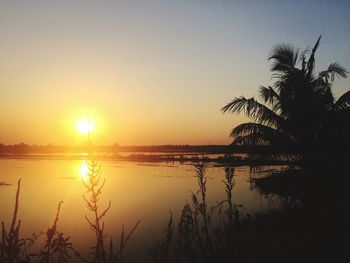
[[[139,219],[141,224],[126,249],[127,261],[137,261],[148,255],[152,246],[151,231],[161,237],[172,211],[174,219],[198,189],[193,165],[180,163],[135,163],[101,161],[103,188],[101,206],[112,202],[104,218],[107,240],[119,241],[122,225],[130,229]],[[276,167],[273,169],[280,169]],[[21,237],[46,231],[63,201],[58,230],[71,237],[74,246],[83,253],[94,245],[85,215],[90,215],[83,199],[83,160],[0,160],[0,221],[9,225],[12,218],[17,181],[21,178],[19,218]],[[275,196],[261,195],[250,183],[250,168],[235,168],[233,202],[242,205],[242,214],[253,214],[276,208]],[[208,204],[225,199],[224,169],[215,165],[207,168]],[[101,208],[101,209],[102,209]]]

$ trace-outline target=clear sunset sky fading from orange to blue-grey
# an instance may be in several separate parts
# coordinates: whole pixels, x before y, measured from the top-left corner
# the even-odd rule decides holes
[[[350,1],[0,0],[0,142],[226,144],[278,43],[350,70]],[[337,80],[336,96],[350,81]],[[79,137],[80,136],[80,137]]]

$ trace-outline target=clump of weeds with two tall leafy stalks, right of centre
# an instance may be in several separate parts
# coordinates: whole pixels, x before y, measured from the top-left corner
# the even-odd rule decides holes
[[[191,193],[191,201],[184,205],[176,226],[170,214],[165,238],[159,240],[153,235],[150,252],[154,262],[220,262],[228,257],[241,206],[233,203],[234,168],[227,166],[224,171],[226,199],[209,206],[207,165],[194,165],[198,189]]]

